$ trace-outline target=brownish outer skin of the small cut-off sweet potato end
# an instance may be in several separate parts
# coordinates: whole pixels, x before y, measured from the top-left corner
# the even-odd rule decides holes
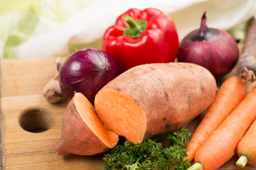
[[[88,101],[89,102],[89,101]],[[93,106],[90,106],[94,110]],[[114,132],[107,131],[112,138],[118,141]],[[117,142],[116,142],[117,143]],[[61,154],[95,155],[111,149],[100,140],[95,132],[82,120],[74,98],[71,99],[63,117],[63,128],[60,140],[53,145],[55,152]]]

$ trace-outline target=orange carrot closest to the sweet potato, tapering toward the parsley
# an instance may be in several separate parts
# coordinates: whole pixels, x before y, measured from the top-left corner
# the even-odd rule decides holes
[[[196,128],[193,137],[187,146],[190,161],[193,160],[197,150],[210,134],[230,115],[247,93],[247,86],[239,77],[230,77],[220,86],[215,100],[203,116],[203,120]]]

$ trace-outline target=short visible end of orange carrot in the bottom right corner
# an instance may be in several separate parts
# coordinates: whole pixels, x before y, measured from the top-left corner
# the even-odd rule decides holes
[[[238,162],[240,167],[245,167],[246,164],[256,164],[256,120],[242,137],[237,148]]]

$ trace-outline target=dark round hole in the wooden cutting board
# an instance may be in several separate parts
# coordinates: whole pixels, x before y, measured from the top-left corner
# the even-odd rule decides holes
[[[45,132],[54,123],[53,115],[42,109],[33,108],[21,113],[19,123],[23,130],[28,132]]]

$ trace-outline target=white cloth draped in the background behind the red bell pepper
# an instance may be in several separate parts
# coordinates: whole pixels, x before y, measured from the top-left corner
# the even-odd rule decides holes
[[[233,28],[255,14],[255,0],[97,0],[52,27],[46,27],[48,23],[41,18],[31,38],[11,48],[9,56],[21,59],[65,56],[70,54],[70,48],[79,45],[101,48],[102,35],[117,16],[129,8],[147,7],[159,8],[171,16],[179,40],[199,28],[203,10],[207,11],[208,27],[223,30]]]

